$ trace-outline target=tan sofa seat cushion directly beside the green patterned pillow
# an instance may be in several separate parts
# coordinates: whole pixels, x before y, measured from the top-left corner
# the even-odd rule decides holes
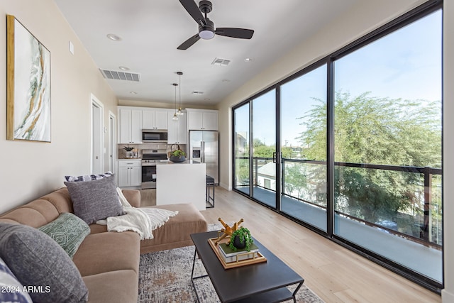
[[[79,246],[72,261],[82,277],[112,270],[138,271],[140,237],[133,231],[94,233]]]

